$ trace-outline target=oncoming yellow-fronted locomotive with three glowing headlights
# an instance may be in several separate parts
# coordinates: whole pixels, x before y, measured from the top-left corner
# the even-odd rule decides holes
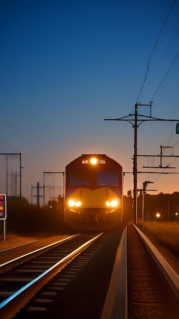
[[[82,154],[66,166],[65,222],[108,230],[123,218],[123,168],[106,154]]]

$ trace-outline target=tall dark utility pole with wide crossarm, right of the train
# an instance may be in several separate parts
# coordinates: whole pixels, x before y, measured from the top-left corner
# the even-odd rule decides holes
[[[150,106],[150,116],[144,116],[138,114],[138,106],[148,107]],[[139,117],[139,118],[138,118]],[[159,119],[152,117],[152,101],[149,104],[135,104],[135,114],[129,114],[117,119],[104,119],[104,121],[127,121],[134,127],[134,158],[133,158],[133,175],[134,175],[134,224],[137,224],[137,128],[139,125],[145,121],[174,121],[179,122],[179,120],[170,119]],[[133,123],[134,122],[134,123]],[[139,123],[139,124],[138,124]],[[176,124],[176,134],[179,134],[179,123]],[[142,172],[140,172],[142,173]],[[161,173],[160,173],[161,174]]]

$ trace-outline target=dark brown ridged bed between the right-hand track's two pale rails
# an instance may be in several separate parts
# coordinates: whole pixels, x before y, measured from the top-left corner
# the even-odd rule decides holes
[[[128,226],[127,266],[129,318],[178,318],[174,291],[132,225]]]

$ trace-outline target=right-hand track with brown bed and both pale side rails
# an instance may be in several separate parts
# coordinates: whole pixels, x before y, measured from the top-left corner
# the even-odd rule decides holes
[[[132,223],[120,246],[101,319],[178,319],[179,276]]]

